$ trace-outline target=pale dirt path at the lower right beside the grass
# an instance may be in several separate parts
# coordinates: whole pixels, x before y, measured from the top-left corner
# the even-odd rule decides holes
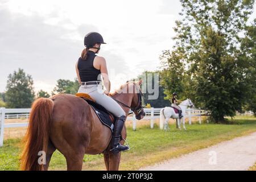
[[[256,133],[253,133],[141,170],[247,170],[255,162]]]

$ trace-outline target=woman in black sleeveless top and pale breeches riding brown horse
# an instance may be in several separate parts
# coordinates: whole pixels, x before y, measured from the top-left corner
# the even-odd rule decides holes
[[[85,35],[84,45],[86,48],[82,51],[81,57],[76,63],[76,73],[80,83],[78,92],[89,94],[97,104],[104,106],[117,118],[114,126],[111,151],[114,154],[118,154],[118,152],[130,149],[128,146],[123,146],[119,143],[126,114],[122,107],[108,96],[110,91],[110,81],[106,60],[104,57],[96,55],[96,53],[100,51],[101,44],[106,43],[104,43],[102,36],[97,32],[90,32]],[[105,91],[101,86],[101,76],[106,88]]]

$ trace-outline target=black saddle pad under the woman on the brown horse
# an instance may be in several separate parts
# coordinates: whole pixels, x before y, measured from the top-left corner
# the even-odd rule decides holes
[[[81,98],[83,98],[83,97],[81,97]],[[106,110],[105,107],[103,107],[102,105],[97,104],[96,102],[93,102],[91,100],[87,100],[86,98],[83,98],[83,99],[86,102],[88,102],[88,104],[93,108],[96,115],[100,119],[101,123],[103,125],[107,126],[113,133],[113,131],[114,131],[114,121],[115,121],[115,118],[114,118],[113,114],[110,114],[109,111]]]

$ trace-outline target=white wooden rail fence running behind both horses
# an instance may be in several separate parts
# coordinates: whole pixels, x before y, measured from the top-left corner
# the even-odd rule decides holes
[[[154,119],[159,118],[160,110],[162,108],[154,108],[144,109],[146,115],[143,119],[150,120],[151,129],[154,128]],[[31,109],[6,109],[5,107],[0,107],[0,147],[3,146],[3,133],[5,128],[10,127],[26,127],[28,126],[27,122],[23,123],[5,123],[5,119],[14,119],[14,118],[28,118]],[[191,125],[191,117],[199,117],[199,123],[201,124],[201,113],[200,109],[188,109],[186,111],[185,117],[189,118],[189,125]],[[133,130],[136,130],[137,119],[135,118],[135,114],[133,116],[127,117],[127,120],[133,121]]]

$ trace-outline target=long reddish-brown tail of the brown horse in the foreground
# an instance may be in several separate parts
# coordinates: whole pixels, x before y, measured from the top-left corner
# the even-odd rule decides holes
[[[39,151],[47,152],[53,105],[53,101],[49,98],[39,98],[32,105],[20,164],[20,168],[24,171],[44,169],[43,165],[39,164],[38,158]]]

